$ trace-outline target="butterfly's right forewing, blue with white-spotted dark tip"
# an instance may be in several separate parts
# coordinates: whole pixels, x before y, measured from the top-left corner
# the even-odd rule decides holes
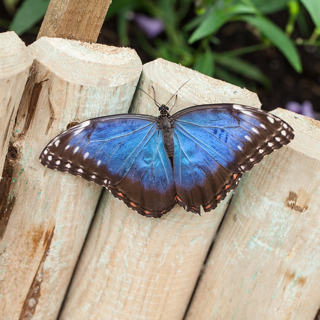
[[[277,116],[238,104],[206,104],[172,115],[203,152],[232,172],[245,172],[264,155],[292,140],[293,129]]]

